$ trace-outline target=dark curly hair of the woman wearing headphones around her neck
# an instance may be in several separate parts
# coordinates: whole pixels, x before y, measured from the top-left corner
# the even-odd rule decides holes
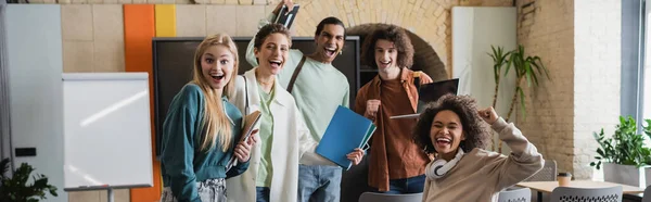
[[[474,148],[485,149],[490,140],[489,127],[477,113],[477,102],[469,96],[445,94],[437,102],[427,104],[427,108],[421,113],[416,128],[413,129],[413,141],[427,154],[436,153],[430,132],[432,123],[438,112],[449,110],[455,112],[461,121],[465,140],[459,143],[464,152],[470,152]]]

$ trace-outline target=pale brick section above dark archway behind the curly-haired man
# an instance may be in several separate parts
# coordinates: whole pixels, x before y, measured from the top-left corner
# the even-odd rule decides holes
[[[272,0],[275,3],[278,0]],[[412,43],[418,50],[431,49],[438,58],[443,71],[429,70],[427,74],[437,75],[446,73],[451,75],[451,15],[450,9],[455,5],[472,4],[457,0],[419,1],[419,0],[294,0],[301,4],[302,17],[294,22],[296,36],[314,36],[316,25],[322,18],[336,16],[344,22],[346,27],[365,26],[367,24],[393,24],[409,30]],[[475,3],[476,4],[476,3]],[[350,31],[350,30],[349,30]],[[420,51],[423,52],[423,51]],[[418,56],[424,56],[419,53]],[[416,60],[430,61],[416,58]],[[438,65],[438,64],[436,64]],[[438,68],[438,67],[436,67]],[[451,76],[439,79],[447,79]]]

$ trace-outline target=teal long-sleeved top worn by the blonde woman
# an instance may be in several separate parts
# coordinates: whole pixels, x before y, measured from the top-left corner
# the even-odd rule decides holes
[[[171,100],[163,124],[161,168],[164,187],[170,187],[179,202],[201,201],[196,188],[199,181],[238,176],[248,168],[246,162],[226,172],[235,140],[240,139],[242,113],[226,98],[221,102],[232,129],[231,148],[227,152],[222,152],[219,140],[208,151],[200,151],[205,98],[199,86],[186,85]]]

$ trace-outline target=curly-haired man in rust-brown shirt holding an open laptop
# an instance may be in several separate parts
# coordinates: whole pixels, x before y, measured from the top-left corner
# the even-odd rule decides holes
[[[376,192],[423,192],[427,155],[411,141],[416,118],[391,116],[417,112],[413,84],[413,46],[405,30],[383,25],[367,37],[362,60],[379,74],[357,92],[355,110],[372,119],[378,129],[371,139],[368,184]],[[430,80],[431,81],[431,80]]]

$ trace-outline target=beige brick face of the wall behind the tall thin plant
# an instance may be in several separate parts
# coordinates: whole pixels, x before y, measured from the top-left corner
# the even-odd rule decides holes
[[[537,90],[525,88],[526,119],[518,112],[518,125],[559,171],[572,172],[574,5],[572,1],[519,1],[518,42],[526,54],[538,55],[552,81],[540,79]]]

